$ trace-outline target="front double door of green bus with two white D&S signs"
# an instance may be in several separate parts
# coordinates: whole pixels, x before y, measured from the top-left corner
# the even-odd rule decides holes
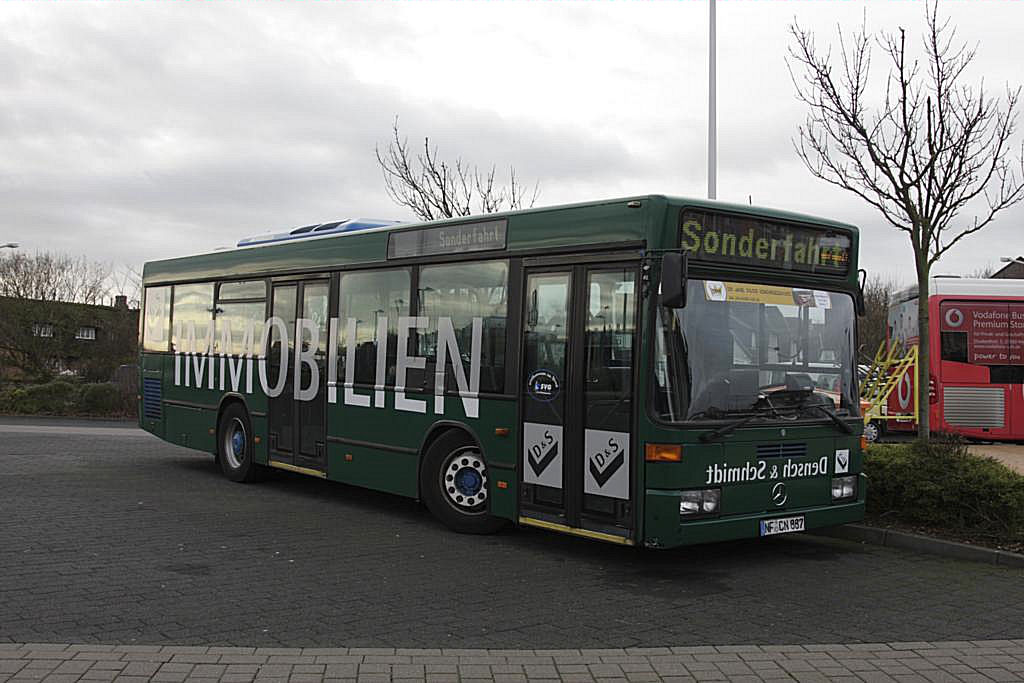
[[[527,268],[519,521],[632,543],[635,265]]]

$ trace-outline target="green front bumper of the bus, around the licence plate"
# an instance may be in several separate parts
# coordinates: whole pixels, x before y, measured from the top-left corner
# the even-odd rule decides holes
[[[864,518],[864,492],[849,503],[794,508],[745,515],[722,515],[681,521],[679,492],[647,489],[644,545],[648,548],[676,548],[697,543],[757,539],[761,521],[780,517],[803,517],[804,530],[858,522]]]

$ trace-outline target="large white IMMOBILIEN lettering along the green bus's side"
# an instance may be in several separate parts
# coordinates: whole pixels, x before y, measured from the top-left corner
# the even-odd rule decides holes
[[[360,408],[385,408],[385,382],[387,377],[388,327],[387,315],[377,318],[376,338],[374,339],[375,377],[373,395],[358,393],[355,388],[356,361],[356,327],[359,321],[346,318],[344,326],[337,317],[328,321],[328,338],[324,340],[328,347],[327,354],[327,400],[338,402],[338,345],[341,335],[345,340],[345,377],[342,382],[344,392],[342,402],[345,405]],[[321,391],[319,369],[317,367],[317,351],[321,348],[322,325],[318,322],[300,317],[295,321],[292,330],[279,316],[272,316],[262,326],[262,335],[257,342],[256,328],[259,323],[249,321],[243,331],[242,344],[234,347],[232,340],[234,331],[230,318],[224,317],[219,323],[219,345],[215,347],[214,322],[210,321],[206,335],[197,334],[193,322],[175,324],[175,338],[182,340],[174,352],[174,385],[195,387],[198,389],[219,389],[233,392],[253,393],[253,365],[257,367],[259,384],[263,392],[270,398],[280,396],[288,383],[288,373],[292,374],[293,397],[295,400],[313,400]],[[419,316],[399,316],[397,319],[397,348],[395,349],[394,408],[410,413],[427,412],[428,402],[422,398],[411,398],[407,395],[407,378],[410,370],[425,370],[427,358],[409,353],[409,337],[412,330],[426,330],[430,327],[430,318]],[[289,341],[292,341],[290,344]],[[437,318],[437,343],[435,351],[434,371],[434,413],[444,415],[445,411],[445,368],[452,366],[459,398],[462,400],[463,412],[467,418],[478,418],[480,414],[480,361],[483,340],[483,318],[474,317],[470,334],[469,375],[463,366],[463,350],[459,348],[455,325],[451,317]],[[271,344],[271,341],[273,344]],[[279,368],[275,383],[270,383],[270,369],[267,354],[271,346],[274,349],[274,361]],[[217,349],[215,351],[215,348]],[[259,352],[257,353],[257,348]],[[232,353],[233,350],[239,353]],[[294,349],[294,354],[290,350]],[[215,358],[219,372],[214,373]],[[183,366],[183,368],[182,368]],[[303,374],[303,369],[309,370]],[[243,382],[243,372],[245,382]],[[305,378],[308,377],[308,380]],[[216,381],[215,381],[216,379]],[[305,381],[304,381],[305,380]]]

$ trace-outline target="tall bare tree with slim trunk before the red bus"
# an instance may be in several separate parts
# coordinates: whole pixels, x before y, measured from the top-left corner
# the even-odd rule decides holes
[[[1020,88],[1005,98],[971,85],[976,50],[956,42],[936,4],[926,4],[924,55],[907,48],[906,31],[871,35],[866,22],[853,36],[839,29],[838,54],[818,50],[814,36],[791,26],[790,73],[808,106],[795,141],[816,177],[849,190],[906,232],[920,293],[918,386],[928,386],[928,276],[965,238],[1024,198],[1024,154],[1012,158]],[[872,48],[889,65],[884,92],[868,101]],[[1022,150],[1024,153],[1024,150]],[[1020,166],[1020,169],[1017,167]],[[972,218],[959,220],[965,211]],[[930,431],[928,411],[919,436]]]

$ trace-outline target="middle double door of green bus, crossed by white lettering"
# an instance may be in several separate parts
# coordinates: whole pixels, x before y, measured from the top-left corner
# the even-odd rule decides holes
[[[271,329],[269,381],[284,385],[269,399],[270,464],[327,471],[325,394],[327,391],[330,281],[308,280],[274,285],[271,314],[288,330],[279,339]],[[287,348],[287,352],[284,349]]]

